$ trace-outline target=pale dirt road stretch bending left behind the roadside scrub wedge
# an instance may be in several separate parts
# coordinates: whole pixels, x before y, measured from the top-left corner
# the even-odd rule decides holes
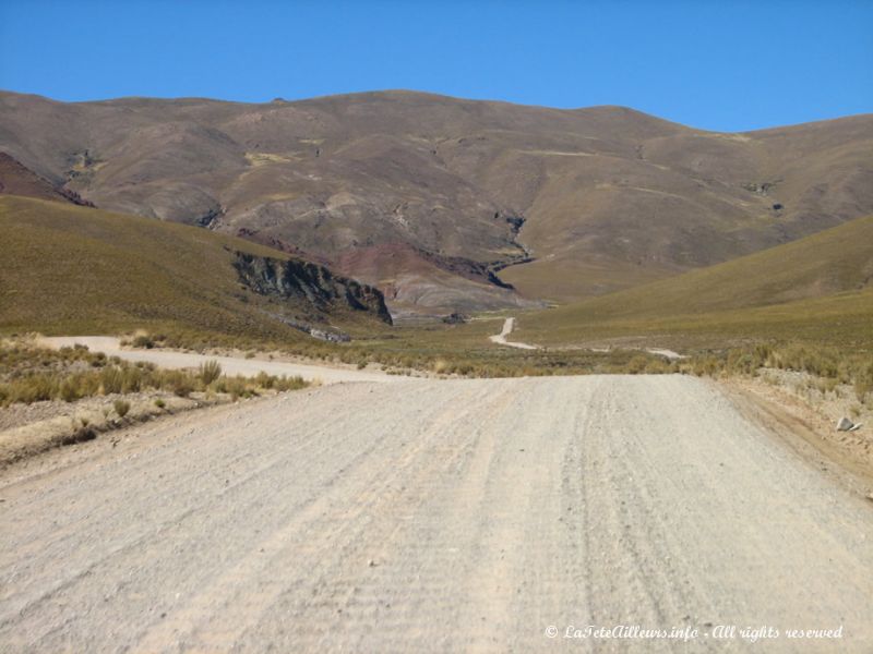
[[[87,346],[93,352],[104,352],[107,356],[119,356],[127,361],[147,361],[165,368],[198,367],[206,361],[217,361],[226,375],[244,375],[253,377],[261,372],[267,375],[300,376],[303,379],[318,379],[323,384],[338,382],[392,382],[397,376],[380,372],[358,371],[350,367],[330,367],[327,365],[310,365],[284,361],[263,361],[259,359],[241,359],[237,356],[211,356],[175,350],[130,350],[123,349],[118,338],[111,336],[52,336],[43,337],[40,342],[52,347],[72,347],[76,343]]]

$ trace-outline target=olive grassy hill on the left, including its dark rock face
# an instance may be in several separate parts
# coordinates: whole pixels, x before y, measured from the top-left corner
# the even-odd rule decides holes
[[[0,331],[187,329],[309,340],[291,323],[379,329],[381,293],[234,237],[0,196]]]

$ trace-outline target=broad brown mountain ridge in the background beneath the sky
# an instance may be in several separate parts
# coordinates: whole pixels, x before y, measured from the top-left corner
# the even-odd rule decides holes
[[[0,149],[101,207],[306,252],[418,307],[523,302],[495,270],[529,299],[601,294],[873,213],[873,116],[721,134],[406,92],[0,94]]]

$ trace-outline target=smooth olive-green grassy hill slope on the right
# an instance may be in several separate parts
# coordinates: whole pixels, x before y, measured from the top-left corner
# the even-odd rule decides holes
[[[552,343],[645,335],[873,343],[873,217],[521,324],[525,338]]]

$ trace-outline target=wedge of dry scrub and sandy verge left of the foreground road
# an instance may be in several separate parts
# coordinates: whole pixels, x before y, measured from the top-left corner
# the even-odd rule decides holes
[[[0,467],[52,447],[96,438],[133,422],[239,398],[306,388],[300,377],[158,370],[84,347],[52,350],[0,341]]]

